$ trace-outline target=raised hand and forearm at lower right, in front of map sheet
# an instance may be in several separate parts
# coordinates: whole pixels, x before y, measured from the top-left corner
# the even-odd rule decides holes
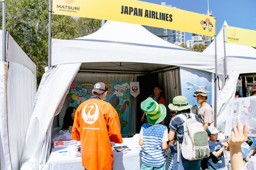
[[[230,163],[232,170],[244,169],[244,161],[241,150],[241,144],[248,139],[248,124],[244,123],[244,131],[242,124],[237,121],[237,128],[233,125],[230,139]]]

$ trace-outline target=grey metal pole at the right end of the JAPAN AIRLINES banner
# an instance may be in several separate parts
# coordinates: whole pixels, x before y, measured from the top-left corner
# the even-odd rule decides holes
[[[216,26],[216,18],[215,18],[215,26]],[[215,78],[214,78],[214,126],[217,127],[217,91],[218,91],[218,84],[217,84],[217,35],[216,35],[216,28],[214,33],[214,46],[215,46]]]

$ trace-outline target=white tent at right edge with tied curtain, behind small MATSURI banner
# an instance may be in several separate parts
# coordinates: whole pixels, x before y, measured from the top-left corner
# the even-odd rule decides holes
[[[228,26],[224,21],[224,26]],[[221,93],[218,93],[217,103],[217,128],[225,130],[225,122],[228,115],[228,103],[234,100],[236,92],[236,81],[239,74],[255,74],[256,65],[256,49],[250,46],[237,45],[226,43],[226,58],[227,58],[227,75],[229,76],[228,82],[225,84],[225,65],[224,65],[224,38],[223,29],[217,35],[217,64],[218,75],[220,76]],[[215,47],[212,42],[202,53],[214,54]],[[225,85],[225,87],[224,87]]]

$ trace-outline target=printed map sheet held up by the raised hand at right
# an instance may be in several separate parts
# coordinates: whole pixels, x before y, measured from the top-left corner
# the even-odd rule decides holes
[[[225,136],[231,136],[233,125],[248,122],[248,136],[256,137],[256,96],[236,98],[230,101],[226,119]]]

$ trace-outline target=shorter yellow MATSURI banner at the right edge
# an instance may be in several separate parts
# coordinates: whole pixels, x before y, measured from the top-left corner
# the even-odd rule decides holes
[[[226,42],[256,47],[256,31],[233,26],[225,27]]]

